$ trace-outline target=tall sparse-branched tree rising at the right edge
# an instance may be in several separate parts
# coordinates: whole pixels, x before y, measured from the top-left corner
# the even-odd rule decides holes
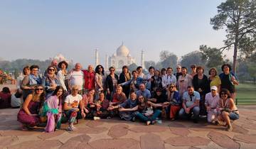
[[[256,1],[227,0],[218,7],[218,14],[210,18],[214,30],[225,28],[225,46],[220,50],[233,48],[233,70],[236,72],[238,50],[242,50],[242,41],[253,41],[256,31]],[[250,43],[250,42],[247,42]],[[247,45],[247,44],[245,44]]]

